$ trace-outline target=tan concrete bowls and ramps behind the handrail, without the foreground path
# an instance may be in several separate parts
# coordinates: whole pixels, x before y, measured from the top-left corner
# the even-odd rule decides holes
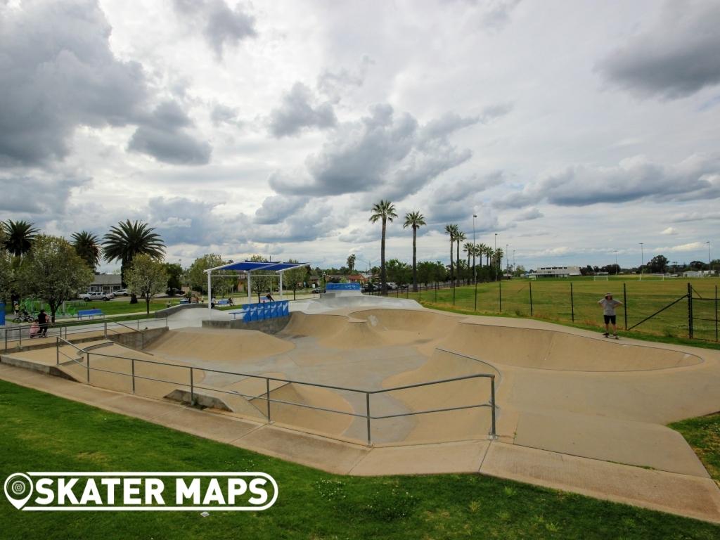
[[[276,335],[175,328],[143,351],[61,345],[60,369],[81,382],[374,446],[497,433],[706,477],[665,424],[720,408],[718,351],[425,309],[293,312]]]

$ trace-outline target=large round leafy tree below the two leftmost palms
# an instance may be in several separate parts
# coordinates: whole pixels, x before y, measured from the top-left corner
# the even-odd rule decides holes
[[[37,235],[20,265],[23,289],[50,305],[50,316],[92,283],[93,273],[68,240]]]

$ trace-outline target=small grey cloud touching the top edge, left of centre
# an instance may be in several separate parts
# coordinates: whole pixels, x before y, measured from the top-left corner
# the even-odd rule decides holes
[[[256,36],[255,18],[243,12],[239,4],[234,10],[224,0],[175,0],[174,5],[193,27],[202,29],[217,60],[222,60],[226,48]]]

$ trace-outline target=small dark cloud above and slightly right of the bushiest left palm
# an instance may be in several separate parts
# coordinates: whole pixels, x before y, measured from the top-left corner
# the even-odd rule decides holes
[[[165,102],[143,117],[130,138],[128,150],[148,154],[174,165],[206,165],[212,147],[195,138],[186,128],[193,122],[176,102]]]

